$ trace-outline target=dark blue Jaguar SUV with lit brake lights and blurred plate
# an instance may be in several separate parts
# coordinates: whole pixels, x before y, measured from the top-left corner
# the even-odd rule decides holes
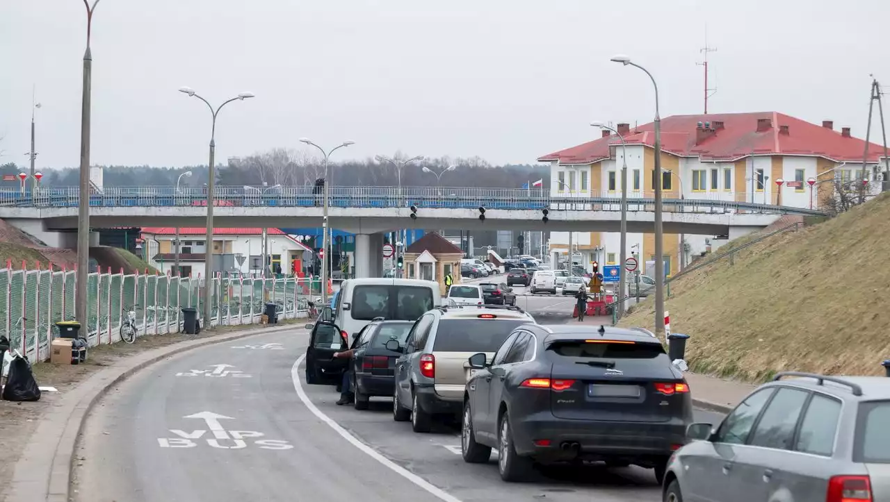
[[[470,463],[498,448],[505,481],[534,462],[654,468],[686,442],[692,397],[658,339],[593,326],[517,328],[492,361],[470,357],[461,447]]]

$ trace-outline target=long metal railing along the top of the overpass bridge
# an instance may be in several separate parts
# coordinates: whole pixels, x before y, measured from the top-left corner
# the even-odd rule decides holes
[[[262,195],[253,188],[216,187],[217,207],[316,207],[323,203],[314,187],[277,187]],[[429,188],[429,187],[331,187],[328,205],[335,208],[534,210],[541,211],[620,211],[619,197],[553,196],[549,190],[521,188]],[[206,191],[198,187],[105,187],[90,194],[93,207],[206,207]],[[17,189],[0,189],[0,206],[77,207],[77,187],[40,187],[32,197]],[[664,199],[665,211],[745,212],[797,215],[823,215],[797,207],[743,203],[710,199]],[[651,198],[628,199],[628,211],[654,211]]]

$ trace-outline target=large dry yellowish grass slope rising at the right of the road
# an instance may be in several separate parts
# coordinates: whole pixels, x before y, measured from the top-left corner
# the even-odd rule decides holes
[[[732,266],[722,259],[671,283],[671,330],[692,337],[692,371],[749,381],[789,370],[882,375],[880,362],[890,358],[888,230],[885,194],[753,244]],[[652,319],[650,299],[621,324],[650,327]]]

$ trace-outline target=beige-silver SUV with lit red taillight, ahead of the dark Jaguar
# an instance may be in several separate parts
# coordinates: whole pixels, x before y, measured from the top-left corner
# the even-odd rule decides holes
[[[470,373],[466,358],[493,355],[516,327],[534,322],[518,307],[442,307],[427,312],[400,348],[392,418],[411,418],[418,433],[429,432],[437,414],[459,418]]]

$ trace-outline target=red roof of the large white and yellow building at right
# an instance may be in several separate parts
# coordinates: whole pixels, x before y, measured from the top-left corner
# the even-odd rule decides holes
[[[757,131],[757,123],[768,119],[770,127]],[[699,123],[723,123],[708,138],[696,144]],[[788,127],[788,133],[781,131]],[[654,147],[654,124],[632,128],[625,135],[628,145]],[[558,160],[562,164],[595,163],[610,157],[609,147],[620,145],[615,134],[538,157],[538,162]],[[734,161],[748,155],[810,155],[835,162],[862,162],[865,141],[845,138],[831,130],[778,112],[668,116],[661,119],[661,148],[679,156],[698,156],[708,161]],[[878,162],[884,147],[871,143],[868,161]]]

